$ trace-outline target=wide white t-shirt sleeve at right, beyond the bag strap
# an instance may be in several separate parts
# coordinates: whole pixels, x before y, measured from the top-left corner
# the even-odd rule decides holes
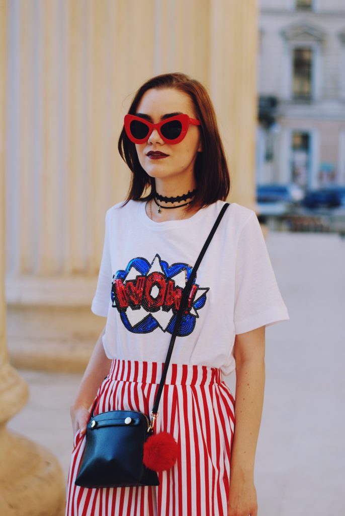
[[[235,272],[235,334],[289,319],[254,211],[240,232]]]

